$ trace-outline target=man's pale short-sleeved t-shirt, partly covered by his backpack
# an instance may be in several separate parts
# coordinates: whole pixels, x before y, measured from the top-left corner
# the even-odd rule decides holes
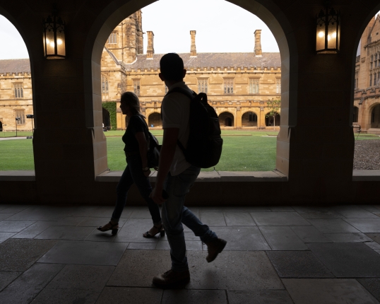
[[[175,83],[170,87],[184,88],[193,93],[188,86],[182,81]],[[170,92],[169,90],[169,92]],[[178,139],[186,148],[187,140],[189,139],[189,115],[190,115],[190,98],[178,92],[171,93],[162,100],[162,128],[177,128],[179,129]],[[174,153],[172,165],[170,166],[171,175],[179,175],[191,165],[186,162],[184,153],[177,145]]]

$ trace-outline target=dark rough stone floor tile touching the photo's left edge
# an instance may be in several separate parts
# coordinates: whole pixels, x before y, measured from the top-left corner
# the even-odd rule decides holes
[[[57,240],[8,239],[0,244],[0,271],[25,271]]]

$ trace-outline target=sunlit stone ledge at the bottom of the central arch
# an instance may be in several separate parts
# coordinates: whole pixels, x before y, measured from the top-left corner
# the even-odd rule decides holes
[[[123,171],[106,171],[95,177],[95,182],[119,182]],[[155,182],[157,172],[150,176],[150,182]],[[287,177],[278,171],[201,172],[196,182],[287,182]]]

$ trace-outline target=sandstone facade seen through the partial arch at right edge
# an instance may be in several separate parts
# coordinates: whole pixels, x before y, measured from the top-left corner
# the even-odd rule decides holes
[[[380,16],[372,18],[361,39],[355,64],[354,125],[380,135]]]

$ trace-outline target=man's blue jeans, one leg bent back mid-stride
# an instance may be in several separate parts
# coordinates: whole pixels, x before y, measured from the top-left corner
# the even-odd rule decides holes
[[[193,165],[179,175],[170,173],[165,180],[165,190],[169,199],[162,204],[162,223],[170,245],[170,257],[172,258],[172,270],[184,271],[189,269],[186,257],[186,244],[182,223],[193,230],[194,234],[201,238],[202,242],[216,240],[217,235],[199,221],[199,219],[184,206],[186,194],[194,184],[200,168]]]

